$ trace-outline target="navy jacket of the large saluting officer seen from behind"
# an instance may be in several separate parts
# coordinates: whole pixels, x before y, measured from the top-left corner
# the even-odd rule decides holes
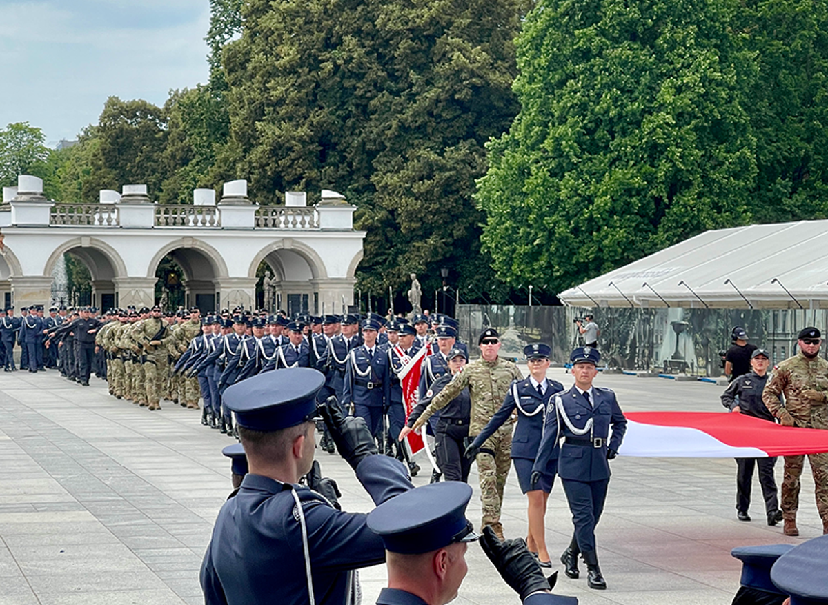
[[[368,456],[356,475],[375,504],[414,487],[402,463],[388,456]],[[307,487],[248,474],[215,521],[200,574],[205,605],[310,603],[292,490],[305,516],[315,603],[344,604],[349,570],[385,560],[383,540],[363,513],[337,511]]]

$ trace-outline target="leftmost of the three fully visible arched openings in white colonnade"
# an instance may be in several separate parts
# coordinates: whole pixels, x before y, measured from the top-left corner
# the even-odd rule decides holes
[[[101,309],[118,306],[115,267],[94,247],[73,247],[60,254],[52,266],[51,299],[55,305],[92,305]]]

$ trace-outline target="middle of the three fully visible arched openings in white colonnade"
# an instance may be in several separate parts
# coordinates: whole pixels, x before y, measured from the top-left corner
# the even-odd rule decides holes
[[[221,305],[215,280],[219,271],[205,252],[179,247],[167,252],[155,270],[155,301],[165,311],[198,307],[207,312]]]

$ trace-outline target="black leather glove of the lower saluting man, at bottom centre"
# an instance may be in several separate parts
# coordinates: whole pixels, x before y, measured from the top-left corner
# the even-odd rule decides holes
[[[522,538],[500,541],[490,526],[483,528],[480,546],[498,569],[500,576],[520,596],[521,601],[539,590],[549,590],[550,583],[541,566],[529,552]],[[555,585],[556,575],[550,577]]]

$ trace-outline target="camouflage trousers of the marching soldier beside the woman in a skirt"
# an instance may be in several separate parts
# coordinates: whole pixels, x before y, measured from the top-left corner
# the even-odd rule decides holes
[[[483,526],[492,526],[498,534],[503,533],[500,507],[503,504],[503,487],[506,486],[509,467],[512,465],[511,454],[512,425],[500,427],[494,435],[486,439],[483,448],[477,454]]]

